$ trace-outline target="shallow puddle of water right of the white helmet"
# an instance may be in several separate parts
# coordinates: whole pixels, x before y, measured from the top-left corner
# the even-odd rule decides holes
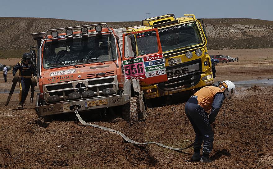
[[[245,81],[234,81],[233,82],[236,87],[252,87],[253,85],[257,85],[260,87],[264,86],[272,86],[273,79],[255,79],[255,80],[245,80]],[[218,83],[215,83],[218,84]]]

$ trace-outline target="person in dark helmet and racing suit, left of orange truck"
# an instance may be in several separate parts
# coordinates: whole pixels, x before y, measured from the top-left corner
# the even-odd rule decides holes
[[[23,104],[25,103],[25,99],[31,86],[32,75],[36,79],[36,68],[30,65],[30,53],[24,53],[22,60],[13,67],[13,76],[15,76],[18,70],[20,70],[19,75],[21,77],[19,80],[20,94],[18,109],[23,109]]]

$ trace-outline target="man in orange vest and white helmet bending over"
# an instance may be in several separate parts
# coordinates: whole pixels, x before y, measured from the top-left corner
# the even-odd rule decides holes
[[[185,105],[185,113],[195,132],[193,161],[212,162],[209,153],[213,148],[215,117],[225,98],[231,99],[235,93],[235,85],[229,80],[220,82],[217,86],[205,86],[198,90]],[[211,110],[208,114],[206,111]],[[203,144],[203,153],[200,154]]]

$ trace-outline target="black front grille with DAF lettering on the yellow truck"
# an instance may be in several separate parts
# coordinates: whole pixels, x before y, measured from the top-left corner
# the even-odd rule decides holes
[[[168,66],[168,81],[158,84],[158,87],[164,91],[173,91],[195,86],[200,81],[201,68],[201,59]]]

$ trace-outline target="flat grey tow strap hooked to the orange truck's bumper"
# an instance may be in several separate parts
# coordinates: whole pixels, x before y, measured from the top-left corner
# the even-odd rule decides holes
[[[76,113],[76,116],[77,118],[79,119],[79,121],[81,122],[81,124],[85,125],[85,126],[93,126],[93,127],[96,127],[96,128],[99,128],[99,129],[102,129],[102,130],[107,130],[107,131],[113,131],[119,135],[121,135],[121,137],[125,140],[125,141],[128,141],[129,143],[133,143],[133,144],[157,144],[161,147],[164,147],[164,148],[169,148],[169,149],[172,149],[172,150],[184,150],[184,149],[187,149],[187,148],[190,148],[190,147],[193,147],[193,144],[190,144],[188,147],[185,147],[185,148],[174,148],[174,147],[169,147],[169,146],[166,146],[164,144],[161,144],[161,143],[157,143],[157,142],[152,142],[152,141],[148,141],[148,142],[145,142],[145,143],[139,143],[139,142],[136,142],[134,140],[131,140],[129,139],[126,135],[124,135],[123,133],[121,133],[120,131],[117,131],[117,130],[113,130],[113,129],[110,129],[108,127],[103,127],[103,126],[99,126],[99,125],[95,125],[95,124],[89,124],[87,122],[85,122],[79,115],[78,113],[78,107],[75,107],[75,113]]]

